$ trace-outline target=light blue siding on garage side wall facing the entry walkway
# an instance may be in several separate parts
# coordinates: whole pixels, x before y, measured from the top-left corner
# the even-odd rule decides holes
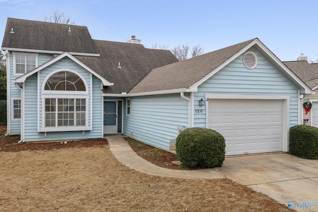
[[[124,106],[124,135],[162,149],[169,149],[178,125],[188,127],[188,101],[180,94],[131,97],[130,116]]]

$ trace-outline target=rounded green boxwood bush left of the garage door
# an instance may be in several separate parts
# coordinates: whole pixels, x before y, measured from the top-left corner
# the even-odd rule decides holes
[[[175,147],[179,160],[190,168],[222,166],[225,160],[225,139],[211,129],[188,128],[178,135]]]

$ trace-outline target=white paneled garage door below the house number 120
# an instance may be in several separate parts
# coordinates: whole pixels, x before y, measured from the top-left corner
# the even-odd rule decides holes
[[[283,100],[209,99],[208,128],[226,139],[226,155],[282,151]]]

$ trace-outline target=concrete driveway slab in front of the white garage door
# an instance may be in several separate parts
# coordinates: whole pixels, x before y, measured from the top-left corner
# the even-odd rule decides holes
[[[236,156],[218,171],[290,209],[318,212],[318,160],[287,153]]]

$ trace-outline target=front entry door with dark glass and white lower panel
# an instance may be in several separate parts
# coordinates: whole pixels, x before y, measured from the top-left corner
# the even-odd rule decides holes
[[[117,101],[104,101],[104,134],[117,134]]]

